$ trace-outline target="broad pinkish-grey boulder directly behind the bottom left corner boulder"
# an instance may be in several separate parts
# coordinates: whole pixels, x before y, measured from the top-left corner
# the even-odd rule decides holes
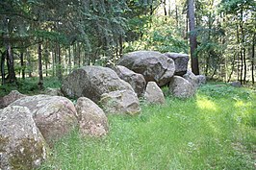
[[[77,125],[73,103],[61,96],[28,96],[16,100],[11,106],[30,109],[40,133],[49,144],[64,134],[69,134]]]

